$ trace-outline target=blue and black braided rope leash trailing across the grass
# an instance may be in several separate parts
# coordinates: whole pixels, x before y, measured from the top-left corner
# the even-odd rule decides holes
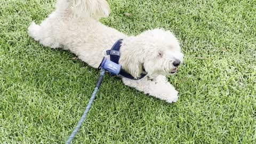
[[[90,108],[91,108],[91,106],[92,106],[92,102],[93,102],[93,100],[95,99],[95,96],[96,96],[98,90],[100,89],[100,85],[101,85],[101,83],[102,83],[102,81],[103,81],[104,74],[105,74],[105,69],[101,69],[101,70],[100,70],[100,76],[99,76],[99,78],[98,78],[98,81],[97,81],[97,84],[96,84],[96,86],[95,86],[95,89],[94,89],[94,91],[93,91],[93,93],[92,93],[92,97],[91,97],[91,99],[90,99],[88,105],[86,106],[86,109],[85,109],[85,111],[84,111],[84,114],[82,115],[80,121],[79,121],[78,124],[76,125],[75,130],[70,134],[70,136],[69,136],[69,138],[68,138],[66,144],[71,143],[71,141],[74,139],[75,135],[76,135],[77,132],[79,131],[80,127],[82,126],[82,124],[83,124],[83,122],[84,122],[84,119],[86,118],[87,113],[89,112],[89,110],[90,110]]]

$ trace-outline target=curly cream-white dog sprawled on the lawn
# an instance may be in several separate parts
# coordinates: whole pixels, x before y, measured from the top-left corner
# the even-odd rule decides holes
[[[32,22],[28,33],[44,46],[75,53],[94,68],[101,63],[102,51],[122,38],[119,65],[134,78],[147,73],[137,80],[121,76],[123,83],[166,102],[176,102],[178,92],[165,76],[175,74],[183,60],[177,38],[163,29],[127,36],[99,22],[109,13],[105,0],[58,0],[56,10],[41,25]]]

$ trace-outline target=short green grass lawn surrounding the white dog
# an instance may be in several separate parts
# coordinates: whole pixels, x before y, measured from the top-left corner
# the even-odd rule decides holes
[[[108,2],[105,25],[178,37],[185,64],[169,79],[180,98],[169,104],[106,76],[74,143],[256,143],[256,1]],[[27,35],[54,3],[0,2],[0,143],[65,142],[93,91],[98,70]]]

